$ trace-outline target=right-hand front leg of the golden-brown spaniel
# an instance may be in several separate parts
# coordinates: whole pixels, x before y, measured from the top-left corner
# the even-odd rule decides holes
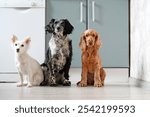
[[[97,65],[95,68],[95,72],[94,72],[94,86],[95,87],[102,87],[102,82],[100,79],[100,69],[99,66]]]

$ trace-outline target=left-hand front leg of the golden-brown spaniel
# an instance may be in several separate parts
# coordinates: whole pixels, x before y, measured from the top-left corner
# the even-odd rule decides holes
[[[78,86],[80,87],[86,87],[87,86],[87,66],[82,65],[82,74],[81,74],[81,81],[77,83]]]

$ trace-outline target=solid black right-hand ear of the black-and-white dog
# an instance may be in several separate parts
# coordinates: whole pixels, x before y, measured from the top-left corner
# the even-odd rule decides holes
[[[64,27],[63,34],[64,35],[71,34],[74,27],[70,24],[70,22],[67,19],[64,19],[64,23],[65,23],[65,27]]]

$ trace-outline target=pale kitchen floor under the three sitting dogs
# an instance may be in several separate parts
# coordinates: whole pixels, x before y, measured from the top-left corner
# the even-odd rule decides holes
[[[81,69],[71,69],[71,87],[16,87],[18,75],[0,75],[1,100],[122,100],[150,99],[150,83],[128,78],[128,69],[105,69],[104,87],[77,87]],[[8,82],[3,82],[3,79]],[[8,80],[9,79],[9,80]]]

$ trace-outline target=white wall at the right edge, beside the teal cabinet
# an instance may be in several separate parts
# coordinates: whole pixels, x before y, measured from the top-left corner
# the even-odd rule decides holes
[[[131,0],[131,77],[150,81],[150,0]]]

